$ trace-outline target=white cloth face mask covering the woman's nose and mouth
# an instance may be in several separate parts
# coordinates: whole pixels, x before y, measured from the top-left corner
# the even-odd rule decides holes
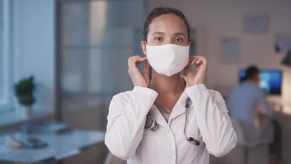
[[[146,45],[146,54],[150,66],[157,73],[170,77],[182,71],[188,64],[189,45]]]

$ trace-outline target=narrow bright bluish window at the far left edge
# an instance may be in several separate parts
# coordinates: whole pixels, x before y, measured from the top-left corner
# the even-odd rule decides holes
[[[0,0],[0,110],[7,110],[11,107],[9,74],[9,0]]]

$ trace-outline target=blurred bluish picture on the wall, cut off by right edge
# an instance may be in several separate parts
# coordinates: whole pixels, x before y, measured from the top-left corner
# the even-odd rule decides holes
[[[275,53],[291,50],[291,34],[276,35],[274,44]]]

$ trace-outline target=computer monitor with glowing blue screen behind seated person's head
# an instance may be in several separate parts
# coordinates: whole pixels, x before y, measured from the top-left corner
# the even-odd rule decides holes
[[[260,70],[259,87],[266,94],[281,94],[282,71],[280,70]],[[242,81],[246,77],[246,71],[239,71],[239,79]]]

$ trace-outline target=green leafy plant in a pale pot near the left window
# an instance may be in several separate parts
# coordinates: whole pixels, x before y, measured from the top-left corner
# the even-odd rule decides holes
[[[31,117],[32,105],[36,101],[34,97],[35,90],[36,84],[34,83],[33,76],[27,79],[22,79],[20,82],[14,84],[14,93],[20,108],[19,112],[25,119]]]

